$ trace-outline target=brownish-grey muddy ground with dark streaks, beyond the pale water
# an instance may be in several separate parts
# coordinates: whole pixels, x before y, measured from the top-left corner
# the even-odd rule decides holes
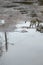
[[[33,16],[34,15],[34,16]],[[4,20],[4,25],[0,25],[0,31],[13,31],[19,22],[31,21],[36,17],[43,22],[43,6],[38,2],[33,4],[26,3],[7,3],[0,6],[0,20]]]

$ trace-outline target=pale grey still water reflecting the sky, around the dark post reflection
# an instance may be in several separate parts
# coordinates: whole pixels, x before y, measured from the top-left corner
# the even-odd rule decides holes
[[[26,28],[27,32],[23,33],[23,25],[28,26],[18,24],[15,32],[7,32],[7,50],[4,33],[0,33],[4,42],[0,48],[0,65],[43,65],[43,33]]]

